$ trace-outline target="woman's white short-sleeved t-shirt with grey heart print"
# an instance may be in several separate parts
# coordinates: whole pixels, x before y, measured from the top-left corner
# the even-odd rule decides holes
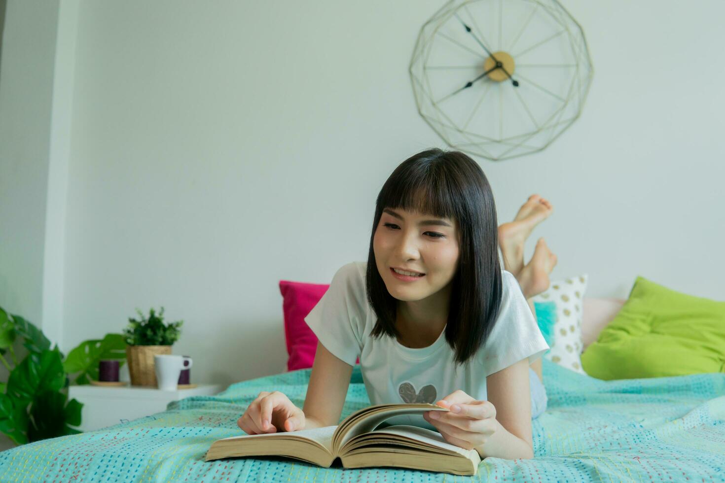
[[[366,261],[353,261],[334,275],[329,289],[305,322],[334,356],[360,371],[371,404],[436,403],[455,390],[486,400],[486,376],[549,349],[513,274],[502,271],[498,319],[482,348],[455,370],[445,330],[428,347],[408,348],[395,337],[370,337],[377,316],[365,290]],[[399,416],[389,424],[435,429],[422,416]]]

